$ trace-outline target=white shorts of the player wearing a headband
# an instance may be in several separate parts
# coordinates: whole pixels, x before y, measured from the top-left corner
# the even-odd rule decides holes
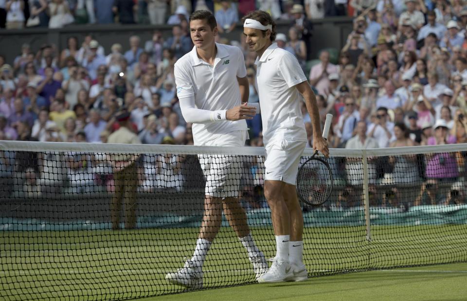
[[[265,180],[283,181],[291,185],[297,182],[298,163],[305,150],[306,142],[277,140],[265,146]]]

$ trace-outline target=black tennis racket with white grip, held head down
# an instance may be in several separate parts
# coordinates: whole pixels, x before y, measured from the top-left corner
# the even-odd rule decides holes
[[[323,137],[327,139],[331,127],[332,115],[326,115]],[[320,206],[327,201],[332,192],[333,178],[329,163],[322,158],[313,156],[300,166],[297,174],[297,194],[300,200],[311,206]]]

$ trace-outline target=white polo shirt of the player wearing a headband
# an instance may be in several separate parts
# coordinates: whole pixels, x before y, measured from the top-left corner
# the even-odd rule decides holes
[[[264,144],[272,138],[306,141],[301,97],[294,87],[306,77],[297,58],[273,43],[255,64]]]

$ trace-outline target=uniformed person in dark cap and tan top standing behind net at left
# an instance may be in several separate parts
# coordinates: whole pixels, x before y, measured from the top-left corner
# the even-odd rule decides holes
[[[130,113],[123,111],[115,116],[120,128],[108,136],[108,143],[141,144],[132,131]],[[112,197],[110,212],[112,229],[120,228],[120,210],[125,203],[125,228],[136,228],[136,190],[138,188],[139,155],[111,155],[115,193]]]

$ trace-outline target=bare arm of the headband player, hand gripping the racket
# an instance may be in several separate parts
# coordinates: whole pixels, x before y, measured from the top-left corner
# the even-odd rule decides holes
[[[307,81],[301,82],[295,85],[300,94],[305,99],[306,109],[311,117],[311,124],[313,124],[313,149],[319,150],[324,156],[329,156],[329,149],[327,142],[321,136],[321,122],[320,122],[320,111],[316,103],[316,95],[310,87]]]

